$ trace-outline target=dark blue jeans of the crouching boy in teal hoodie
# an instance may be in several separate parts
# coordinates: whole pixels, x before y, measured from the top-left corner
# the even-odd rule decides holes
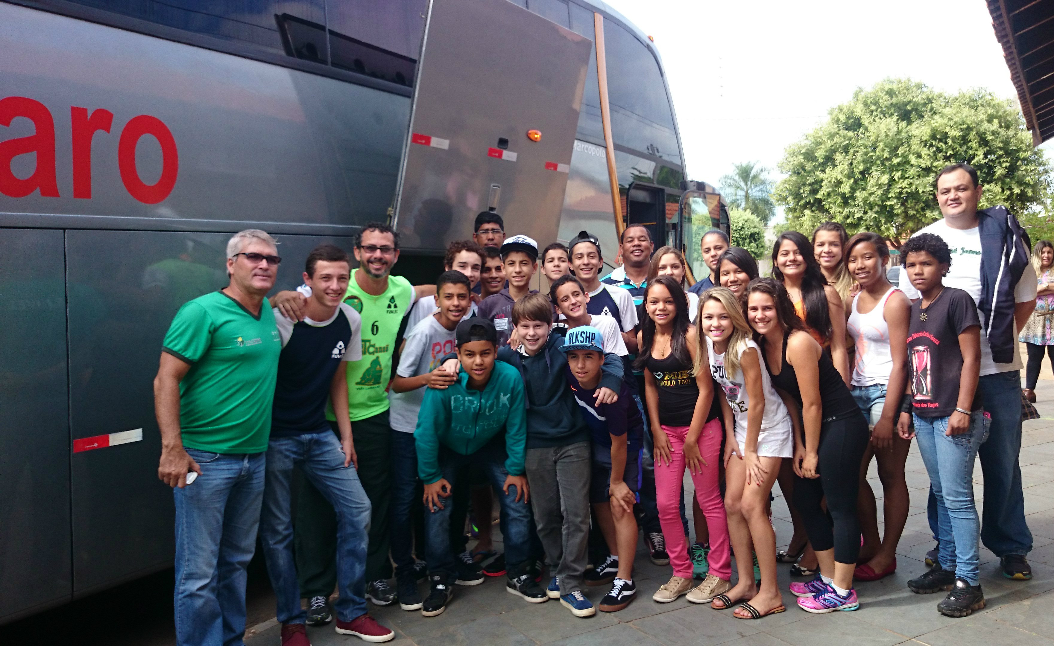
[[[453,489],[457,488],[457,471],[460,468],[472,465],[483,470],[494,488],[494,495],[501,506],[502,539],[505,543],[505,564],[509,575],[518,571],[518,568],[530,557],[531,533],[533,532],[533,516],[530,504],[516,500],[516,488],[509,487],[509,492],[502,491],[505,486],[505,478],[508,472],[505,470],[505,443],[504,438],[495,437],[496,442],[491,442],[471,455],[463,455],[448,449],[440,447],[440,471]],[[464,482],[462,487],[468,487]],[[443,500],[443,507],[434,510],[425,507],[425,556],[428,561],[428,570],[432,574],[445,573],[453,576],[456,572],[456,561],[453,546],[450,544],[450,516],[453,509],[453,498]]]

